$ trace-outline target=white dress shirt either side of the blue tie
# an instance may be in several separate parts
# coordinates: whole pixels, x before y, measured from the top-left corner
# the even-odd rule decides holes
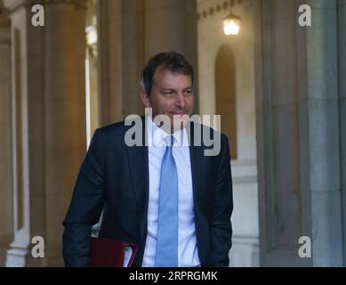
[[[157,216],[161,163],[165,154],[165,133],[152,119],[147,118],[149,151],[148,234],[143,256],[143,267],[155,266],[157,252]],[[174,134],[173,158],[178,173],[178,266],[199,266],[195,215],[192,191],[189,141],[185,129]],[[181,141],[182,140],[182,141]]]

